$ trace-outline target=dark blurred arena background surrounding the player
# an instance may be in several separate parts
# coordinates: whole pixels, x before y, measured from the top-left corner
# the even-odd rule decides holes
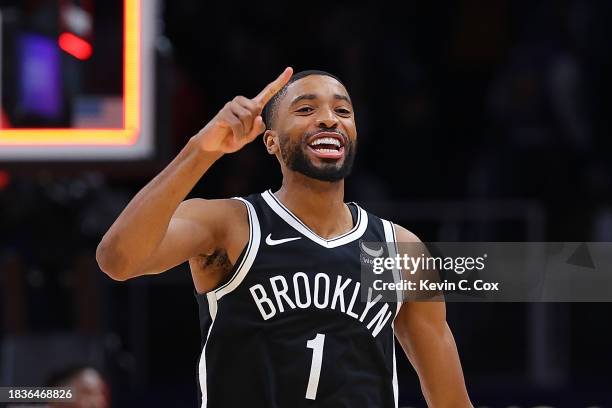
[[[126,4],[0,0],[0,155],[17,129],[121,128]],[[36,159],[2,155],[0,386],[50,384],[81,365],[101,373],[113,407],[196,406],[187,265],[117,283],[95,248],[227,100],[287,65],[338,75],[351,94],[347,201],[423,241],[612,241],[611,2],[142,0],[142,11],[154,27],[142,49],[154,72],[149,154],[85,160],[43,140],[25,146]],[[256,141],[190,196],[280,180]],[[612,406],[610,304],[447,309],[476,406]],[[398,357],[400,406],[424,407]]]

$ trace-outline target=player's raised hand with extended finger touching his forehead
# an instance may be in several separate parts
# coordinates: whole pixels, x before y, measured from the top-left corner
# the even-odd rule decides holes
[[[285,68],[256,97],[236,96],[198,132],[195,138],[209,152],[233,153],[266,130],[261,112],[268,101],[289,82],[293,69]]]

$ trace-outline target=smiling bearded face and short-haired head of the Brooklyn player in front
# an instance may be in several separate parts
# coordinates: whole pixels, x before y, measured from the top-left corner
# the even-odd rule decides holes
[[[332,77],[309,75],[289,84],[271,134],[280,148],[273,153],[290,170],[329,182],[351,172],[357,147],[353,105]]]

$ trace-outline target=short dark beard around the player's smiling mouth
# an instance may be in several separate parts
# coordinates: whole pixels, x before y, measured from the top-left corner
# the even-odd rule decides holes
[[[335,182],[348,177],[353,169],[357,141],[351,141],[348,137],[344,138],[346,144],[344,145],[344,161],[341,165],[337,164],[337,160],[321,159],[323,164],[316,166],[306,153],[306,149],[308,149],[306,140],[315,133],[318,133],[318,131],[305,134],[301,141],[295,143],[290,142],[289,136],[281,135],[279,142],[285,165],[306,177],[320,181]]]

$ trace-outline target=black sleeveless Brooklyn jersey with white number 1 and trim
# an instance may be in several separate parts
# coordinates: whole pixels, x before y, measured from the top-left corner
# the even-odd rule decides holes
[[[249,242],[228,281],[196,294],[201,406],[396,407],[400,303],[360,296],[360,242],[395,242],[393,225],[350,203],[354,227],[324,239],[270,191],[238,199]]]

